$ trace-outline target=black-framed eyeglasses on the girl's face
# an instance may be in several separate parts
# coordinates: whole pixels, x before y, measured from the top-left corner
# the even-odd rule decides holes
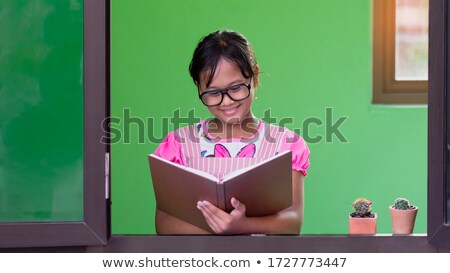
[[[208,107],[220,105],[225,94],[227,94],[227,96],[233,101],[241,101],[250,96],[251,85],[252,79],[250,78],[250,82],[248,84],[241,83],[224,89],[203,92],[198,97],[203,102],[203,104]]]

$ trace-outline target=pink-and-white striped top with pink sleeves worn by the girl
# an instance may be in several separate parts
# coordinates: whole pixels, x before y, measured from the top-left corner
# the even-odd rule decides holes
[[[306,176],[310,151],[303,138],[294,132],[261,120],[258,131],[250,138],[220,139],[208,133],[207,122],[202,120],[169,133],[154,154],[220,179],[229,172],[290,150],[292,169]]]

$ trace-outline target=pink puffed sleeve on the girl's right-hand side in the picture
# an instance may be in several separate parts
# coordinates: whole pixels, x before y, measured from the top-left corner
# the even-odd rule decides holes
[[[305,140],[296,133],[287,130],[283,135],[279,152],[292,151],[292,169],[307,175],[310,151]]]

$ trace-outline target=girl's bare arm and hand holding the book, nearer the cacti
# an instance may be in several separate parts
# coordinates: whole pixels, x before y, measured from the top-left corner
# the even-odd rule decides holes
[[[217,234],[299,234],[303,223],[303,174],[292,173],[292,206],[276,214],[263,217],[246,217],[245,205],[235,198],[231,204],[234,210],[229,214],[213,204],[198,202],[198,209],[206,222]]]

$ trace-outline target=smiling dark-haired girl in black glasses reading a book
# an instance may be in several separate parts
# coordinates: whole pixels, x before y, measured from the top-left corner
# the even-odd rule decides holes
[[[234,207],[231,213],[203,200],[199,200],[197,208],[216,234],[298,234],[303,222],[303,179],[310,152],[297,134],[267,124],[252,114],[259,67],[250,43],[237,32],[211,33],[197,45],[189,72],[199,99],[214,118],[169,133],[155,154],[221,176],[232,171],[232,166],[248,166],[291,150],[291,207],[264,217],[247,217],[245,204],[236,198],[231,200]],[[156,231],[158,234],[207,233],[158,209]]]

